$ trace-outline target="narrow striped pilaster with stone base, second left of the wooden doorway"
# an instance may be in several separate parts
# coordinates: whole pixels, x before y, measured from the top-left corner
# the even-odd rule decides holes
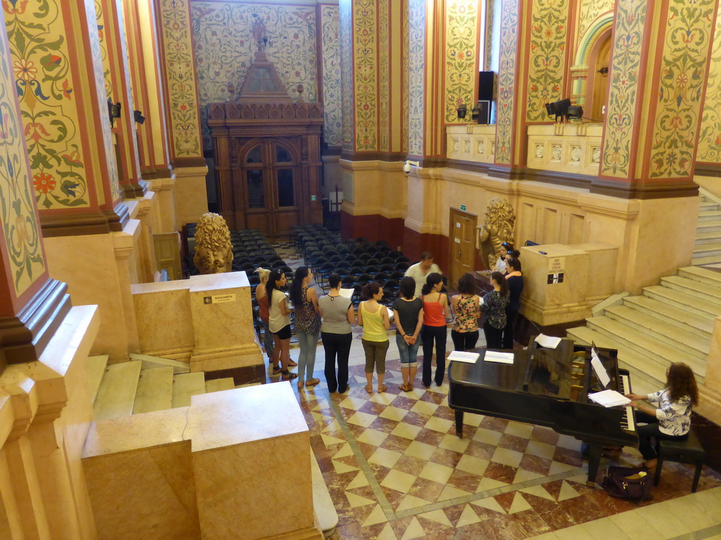
[[[130,57],[134,107],[145,118],[136,123],[141,174],[152,184],[158,199],[154,233],[177,230],[175,174],[170,165],[168,127],[161,69],[159,35],[153,0],[122,0]]]

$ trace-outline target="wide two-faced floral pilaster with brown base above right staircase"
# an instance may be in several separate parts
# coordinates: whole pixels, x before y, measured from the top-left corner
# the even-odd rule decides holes
[[[601,169],[591,191],[693,197],[717,2],[616,2]]]

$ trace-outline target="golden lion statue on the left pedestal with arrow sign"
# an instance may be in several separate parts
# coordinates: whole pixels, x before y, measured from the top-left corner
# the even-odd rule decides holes
[[[193,263],[200,274],[229,272],[233,263],[230,231],[222,216],[208,212],[198,220],[195,228],[195,257]]]

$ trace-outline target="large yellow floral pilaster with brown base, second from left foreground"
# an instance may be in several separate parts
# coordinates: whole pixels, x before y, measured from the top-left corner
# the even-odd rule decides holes
[[[3,7],[44,235],[122,230],[94,1]]]

